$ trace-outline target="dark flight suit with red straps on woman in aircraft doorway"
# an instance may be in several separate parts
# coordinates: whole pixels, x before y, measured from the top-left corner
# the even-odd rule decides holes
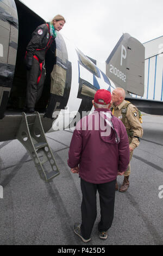
[[[26,107],[34,108],[40,99],[45,82],[45,55],[55,40],[49,30],[49,23],[40,25],[32,34],[27,46],[25,63],[27,67]]]

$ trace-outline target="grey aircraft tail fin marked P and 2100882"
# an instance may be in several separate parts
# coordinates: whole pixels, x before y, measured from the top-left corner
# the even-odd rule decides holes
[[[144,94],[145,47],[125,33],[106,60],[106,75],[129,93]]]

